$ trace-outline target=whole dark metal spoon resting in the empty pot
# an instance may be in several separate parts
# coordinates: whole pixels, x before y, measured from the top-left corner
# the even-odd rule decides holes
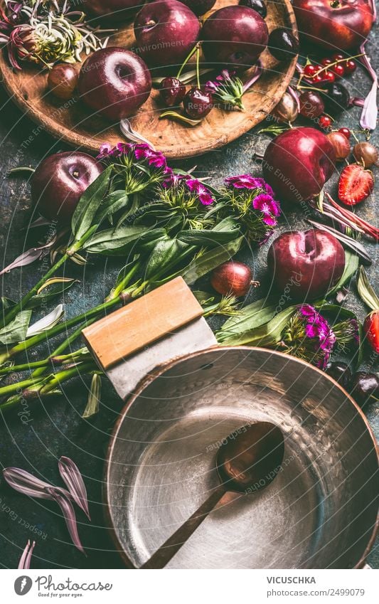
[[[281,430],[269,422],[242,426],[223,440],[216,457],[221,484],[141,568],[164,568],[228,492],[255,493],[265,489],[280,470],[284,455]],[[229,497],[225,497],[228,502]]]

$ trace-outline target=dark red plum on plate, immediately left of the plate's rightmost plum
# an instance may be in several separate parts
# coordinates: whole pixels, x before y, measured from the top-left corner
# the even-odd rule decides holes
[[[198,18],[177,0],[148,2],[134,21],[137,51],[152,67],[181,65],[199,33]]]

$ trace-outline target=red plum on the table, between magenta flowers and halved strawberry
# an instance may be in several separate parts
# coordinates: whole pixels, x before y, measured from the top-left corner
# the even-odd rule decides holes
[[[320,193],[335,163],[336,154],[326,135],[315,128],[299,127],[272,139],[262,169],[281,201],[299,203]]]

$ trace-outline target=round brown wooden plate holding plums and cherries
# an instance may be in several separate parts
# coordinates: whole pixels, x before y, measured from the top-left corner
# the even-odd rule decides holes
[[[237,4],[236,0],[218,0],[215,8]],[[0,6],[4,0],[0,0]],[[290,0],[267,3],[266,18],[269,31],[286,26],[297,33]],[[131,48],[135,39],[132,24],[115,33],[108,46]],[[277,105],[294,74],[296,60],[278,63],[268,51],[262,54],[265,71],[243,102],[245,112],[214,108],[195,127],[186,126],[166,118],[159,120],[161,107],[158,92],[153,90],[149,100],[131,118],[132,127],[171,159],[182,159],[218,149],[245,134],[259,124]],[[0,53],[0,70],[9,95],[28,117],[64,142],[95,153],[102,142],[116,144],[123,139],[119,124],[110,124],[105,118],[90,115],[85,105],[77,99],[59,100],[46,86],[46,70],[23,64],[16,72],[9,67],[6,53]],[[246,73],[245,77],[249,75]]]

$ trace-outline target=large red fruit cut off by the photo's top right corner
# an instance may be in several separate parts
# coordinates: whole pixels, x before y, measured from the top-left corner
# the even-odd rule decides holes
[[[366,0],[294,0],[292,6],[300,38],[327,50],[358,48],[373,26]]]

